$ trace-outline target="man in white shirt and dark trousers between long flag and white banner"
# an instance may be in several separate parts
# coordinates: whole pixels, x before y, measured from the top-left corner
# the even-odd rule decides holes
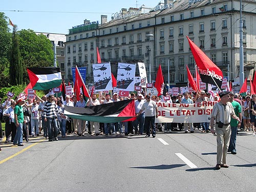
[[[158,108],[155,101],[151,100],[150,95],[146,95],[146,102],[143,103],[141,110],[136,115],[138,118],[140,114],[144,111],[145,121],[144,127],[146,129],[146,136],[150,137],[150,127],[152,128],[152,137],[156,137],[156,124],[155,117],[158,118]]]

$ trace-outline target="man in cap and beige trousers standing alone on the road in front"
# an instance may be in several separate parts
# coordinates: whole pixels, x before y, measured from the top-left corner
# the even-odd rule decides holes
[[[228,168],[226,164],[226,156],[231,136],[230,120],[236,119],[240,122],[240,118],[234,113],[233,106],[229,101],[230,91],[222,91],[219,93],[221,100],[214,105],[211,112],[210,132],[214,132],[214,121],[216,120],[215,130],[217,134],[217,164],[215,168],[219,170],[221,167]]]

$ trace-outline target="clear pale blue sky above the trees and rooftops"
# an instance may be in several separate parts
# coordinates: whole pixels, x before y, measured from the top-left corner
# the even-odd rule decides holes
[[[87,19],[100,23],[100,15],[108,15],[122,8],[139,8],[141,5],[155,7],[161,0],[1,0],[0,12],[4,12],[18,30],[32,29],[35,32],[68,34],[73,26]],[[9,20],[8,20],[9,22]],[[9,26],[12,30],[12,27]]]

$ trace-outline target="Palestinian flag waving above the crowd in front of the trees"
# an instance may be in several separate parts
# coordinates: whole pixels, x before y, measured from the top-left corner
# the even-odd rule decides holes
[[[59,68],[27,68],[33,90],[48,90],[60,86],[62,81]]]

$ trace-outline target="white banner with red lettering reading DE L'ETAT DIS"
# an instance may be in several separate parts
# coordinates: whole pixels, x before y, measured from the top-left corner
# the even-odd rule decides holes
[[[155,123],[200,123],[210,122],[212,108],[217,102],[203,101],[195,104],[156,103],[158,106],[158,118],[155,118]]]

